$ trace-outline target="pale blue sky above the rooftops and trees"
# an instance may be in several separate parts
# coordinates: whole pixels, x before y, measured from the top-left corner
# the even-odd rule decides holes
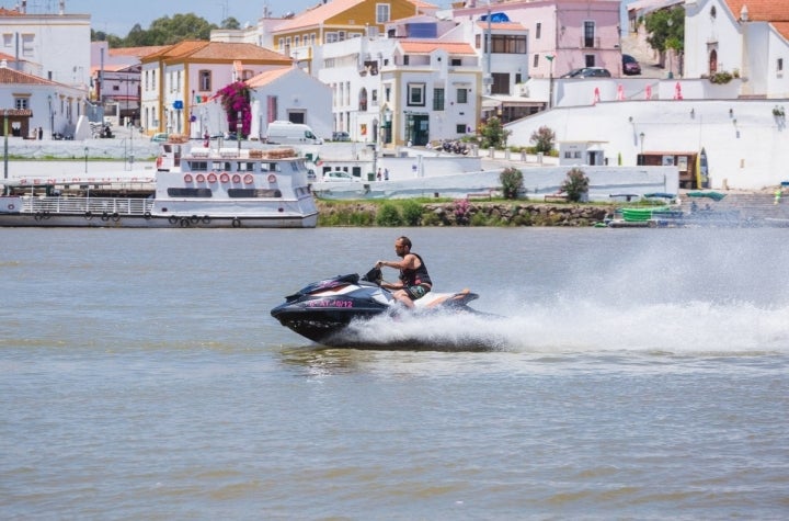
[[[67,13],[90,13],[91,26],[95,31],[124,37],[139,23],[148,29],[150,23],[162,16],[194,13],[210,23],[219,25],[222,20],[233,16],[245,25],[255,23],[268,5],[273,16],[288,11],[299,13],[317,5],[321,0],[66,0]],[[0,0],[0,7],[13,9],[18,0]],[[27,0],[27,11],[57,12],[58,0]],[[450,0],[434,0],[432,3],[445,8]]]

